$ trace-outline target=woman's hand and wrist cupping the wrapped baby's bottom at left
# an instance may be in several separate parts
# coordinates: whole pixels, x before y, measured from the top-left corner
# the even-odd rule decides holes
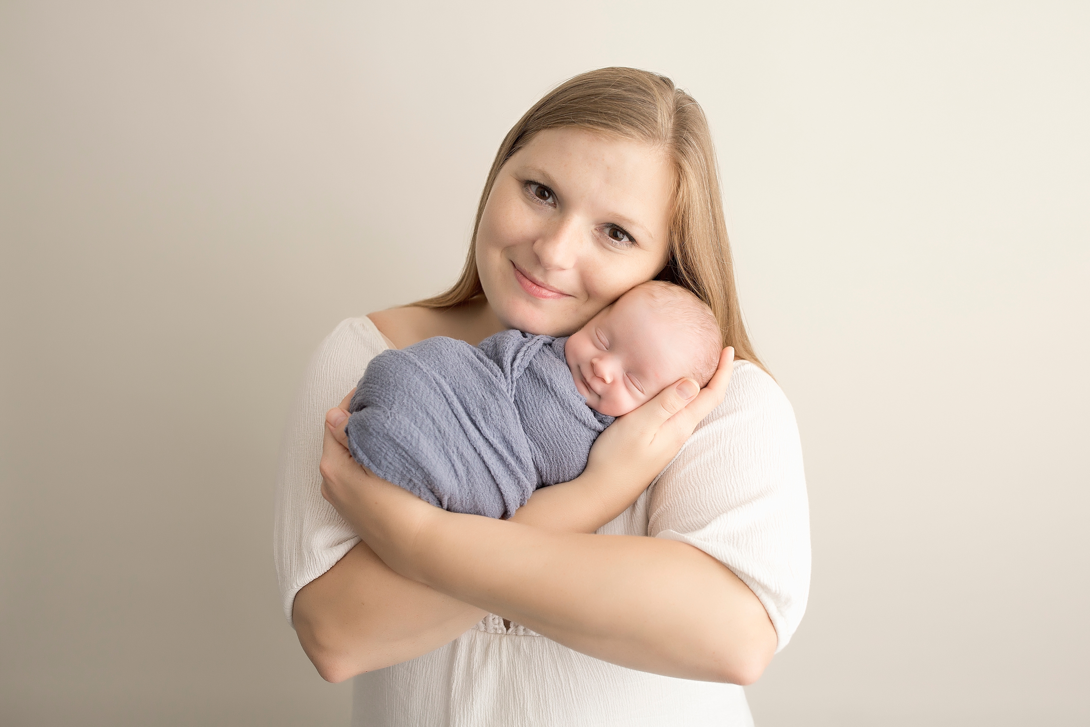
[[[355,389],[326,412],[322,445],[322,496],[390,568],[404,572],[421,531],[444,510],[376,476],[348,450],[344,424]]]

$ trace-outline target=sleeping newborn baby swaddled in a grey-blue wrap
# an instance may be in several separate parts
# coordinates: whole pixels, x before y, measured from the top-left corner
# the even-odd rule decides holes
[[[614,417],[719,359],[711,308],[678,286],[628,291],[567,338],[505,330],[424,339],[372,359],[349,404],[349,450],[436,507],[510,518],[574,480]]]

